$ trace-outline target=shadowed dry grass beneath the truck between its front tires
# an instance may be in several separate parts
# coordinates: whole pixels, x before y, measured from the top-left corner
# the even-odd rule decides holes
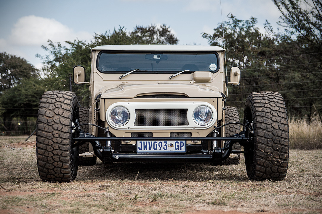
[[[194,163],[113,163],[79,167],[77,180],[248,180],[244,165],[211,166]]]

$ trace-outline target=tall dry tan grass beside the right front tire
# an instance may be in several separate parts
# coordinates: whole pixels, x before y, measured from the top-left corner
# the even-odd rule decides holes
[[[322,149],[322,117],[307,120],[289,120],[289,141],[291,149]]]

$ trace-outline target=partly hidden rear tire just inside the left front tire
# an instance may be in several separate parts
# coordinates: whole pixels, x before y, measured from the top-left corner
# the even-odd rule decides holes
[[[80,112],[80,124],[88,124],[90,122],[90,107],[79,107],[79,112]],[[81,126],[81,129],[89,133],[90,132],[90,127],[89,125],[83,125]],[[90,151],[90,145],[89,142],[86,142],[85,144],[81,145],[79,147],[79,153],[85,153]],[[95,157],[90,157],[90,158],[84,158],[79,156],[78,159],[78,165],[79,166],[92,166],[96,164],[96,156]]]

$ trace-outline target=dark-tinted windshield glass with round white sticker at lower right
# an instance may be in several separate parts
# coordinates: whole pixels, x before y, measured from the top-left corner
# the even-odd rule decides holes
[[[215,53],[106,53],[98,58],[98,69],[103,73],[124,73],[135,69],[148,72],[180,72],[184,70],[218,70]]]

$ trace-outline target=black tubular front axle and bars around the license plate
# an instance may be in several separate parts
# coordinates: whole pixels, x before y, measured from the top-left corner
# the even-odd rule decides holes
[[[136,153],[133,149],[135,146],[124,146],[129,152],[118,152],[109,146],[101,146],[99,141],[225,141],[224,147],[215,147],[212,149],[189,150],[194,145],[187,145],[186,153]],[[222,162],[229,157],[231,153],[243,153],[243,151],[232,151],[235,143],[245,145],[252,139],[245,137],[244,133],[236,134],[230,137],[187,137],[187,138],[171,138],[171,137],[95,137],[88,133],[80,133],[80,137],[73,138],[75,144],[73,147],[80,146],[85,142],[90,142],[93,146],[95,155],[104,162],[186,162],[186,163],[211,163],[212,165],[221,165]],[[119,143],[120,145],[120,143]],[[202,147],[200,147],[202,148]],[[131,151],[131,152],[130,152]]]

